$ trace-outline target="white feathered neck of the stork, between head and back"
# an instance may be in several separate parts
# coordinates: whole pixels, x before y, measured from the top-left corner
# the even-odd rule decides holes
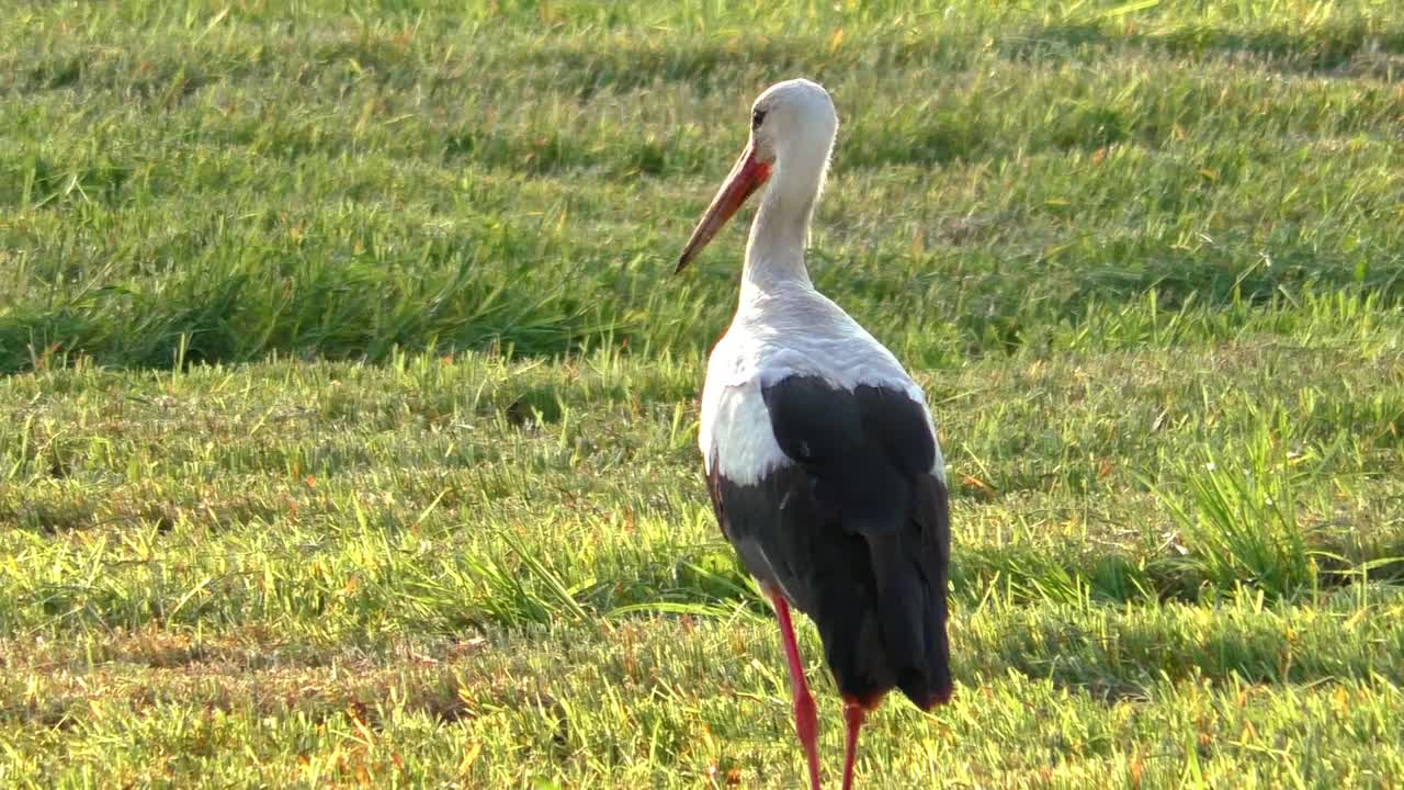
[[[746,243],[743,295],[747,290],[812,287],[804,267],[804,246],[809,243],[809,224],[823,170],[775,164],[775,174],[761,195],[761,207]]]

